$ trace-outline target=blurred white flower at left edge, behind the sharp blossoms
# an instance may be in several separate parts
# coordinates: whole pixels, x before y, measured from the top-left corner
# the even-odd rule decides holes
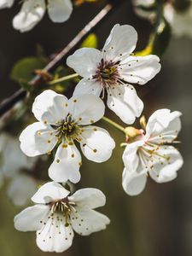
[[[37,159],[28,158],[20,150],[18,139],[0,135],[0,187],[4,178],[9,178],[7,193],[15,206],[24,206],[37,191],[37,182],[24,171],[30,171]]]

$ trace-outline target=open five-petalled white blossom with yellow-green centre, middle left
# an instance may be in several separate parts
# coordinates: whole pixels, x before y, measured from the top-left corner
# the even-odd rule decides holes
[[[50,154],[59,144],[55,160],[49,167],[49,177],[55,182],[70,180],[78,183],[81,155],[75,142],[80,143],[84,156],[95,162],[110,158],[115,143],[108,131],[93,126],[102,119],[104,104],[97,96],[73,97],[45,90],[32,106],[38,122],[29,125],[20,135],[20,148],[28,156]]]

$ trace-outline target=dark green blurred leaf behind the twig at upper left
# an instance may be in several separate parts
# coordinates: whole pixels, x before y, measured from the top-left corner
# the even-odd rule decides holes
[[[45,64],[45,61],[38,57],[26,57],[15,63],[10,78],[19,83],[20,80],[29,82],[34,77],[34,70],[43,69]]]

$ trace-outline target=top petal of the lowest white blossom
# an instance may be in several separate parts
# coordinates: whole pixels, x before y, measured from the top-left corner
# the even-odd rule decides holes
[[[66,198],[69,191],[64,189],[61,184],[50,182],[45,183],[35,195],[32,196],[32,201],[38,204],[46,204],[50,201]]]

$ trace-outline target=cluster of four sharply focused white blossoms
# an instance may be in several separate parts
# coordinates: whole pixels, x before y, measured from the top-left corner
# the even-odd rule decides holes
[[[141,116],[143,102],[133,84],[147,84],[160,72],[161,65],[157,55],[134,55],[136,44],[137,32],[132,26],[113,26],[102,50],[82,48],[67,58],[67,66],[82,78],[70,99],[44,90],[32,104],[37,121],[21,132],[20,148],[30,158],[48,154],[54,159],[48,171],[52,182],[44,183],[32,195],[34,206],[15,216],[15,228],[36,231],[37,245],[44,252],[63,252],[72,245],[73,231],[88,236],[110,223],[107,216],[95,210],[105,205],[102,191],[89,188],[72,194],[63,184],[79,183],[80,151],[96,163],[107,161],[113,154],[113,138],[95,125],[104,116],[106,94],[108,108],[126,126]],[[141,129],[123,129],[122,185],[126,194],[140,194],[147,177],[157,183],[177,177],[183,158],[173,143],[177,143],[181,130],[180,116],[180,112],[159,109],[147,123],[140,119]]]

